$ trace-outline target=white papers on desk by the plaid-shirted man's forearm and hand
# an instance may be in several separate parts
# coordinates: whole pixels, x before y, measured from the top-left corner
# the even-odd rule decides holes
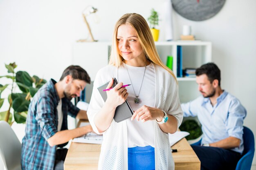
[[[89,125],[89,122],[81,122],[79,127]],[[76,137],[72,140],[72,142],[78,142],[78,143],[88,143],[88,144],[102,144],[103,136],[98,135],[96,133],[87,133],[81,137]]]

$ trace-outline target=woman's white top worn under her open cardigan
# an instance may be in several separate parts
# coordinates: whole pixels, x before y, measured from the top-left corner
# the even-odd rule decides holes
[[[127,73],[127,70],[129,75]],[[136,111],[143,105],[154,107],[155,105],[155,69],[153,64],[146,66],[145,75],[144,75],[145,67],[134,67],[126,64],[126,67],[121,65],[118,69],[118,83],[123,82],[124,85],[132,84],[126,87],[128,95],[128,102],[132,107],[133,111]],[[144,75],[144,78],[143,78]],[[143,79],[142,85],[141,81]],[[131,80],[131,81],[130,81]],[[141,90],[139,92],[141,86]],[[136,96],[139,94],[140,102],[136,104],[135,94],[132,89],[134,88]],[[150,120],[142,123],[141,121],[137,121],[136,119],[131,121],[130,119],[126,120],[127,123],[127,134],[128,134],[128,148],[132,148],[135,146],[152,146],[155,147],[154,142],[154,121]]]

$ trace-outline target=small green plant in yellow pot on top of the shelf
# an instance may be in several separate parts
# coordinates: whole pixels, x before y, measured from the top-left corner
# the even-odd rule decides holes
[[[148,21],[150,23],[150,31],[153,35],[153,39],[154,41],[157,41],[159,37],[159,30],[155,28],[159,22],[157,11],[151,9],[151,15],[148,17]]]

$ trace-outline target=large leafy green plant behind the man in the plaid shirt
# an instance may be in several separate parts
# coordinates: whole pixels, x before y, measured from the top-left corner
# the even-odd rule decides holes
[[[0,120],[5,120],[9,124],[12,124],[14,121],[24,123],[26,122],[27,110],[31,98],[46,81],[38,78],[38,76],[31,77],[25,71],[15,72],[15,68],[17,67],[15,63],[5,64],[5,67],[8,70],[8,75],[0,76],[0,78],[5,77],[11,79],[11,84],[0,84],[0,108],[4,101],[8,100],[9,109],[0,112]],[[18,88],[16,88],[17,86]],[[16,92],[16,89],[19,89],[19,92]],[[7,98],[1,97],[4,90],[9,90]]]

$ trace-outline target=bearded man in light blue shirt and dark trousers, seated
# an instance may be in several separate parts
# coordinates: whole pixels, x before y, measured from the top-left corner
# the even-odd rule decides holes
[[[181,106],[184,117],[198,116],[202,124],[201,146],[192,146],[201,161],[201,170],[234,170],[244,149],[246,110],[236,97],[221,89],[216,64],[207,63],[196,69],[196,83],[202,96]]]

